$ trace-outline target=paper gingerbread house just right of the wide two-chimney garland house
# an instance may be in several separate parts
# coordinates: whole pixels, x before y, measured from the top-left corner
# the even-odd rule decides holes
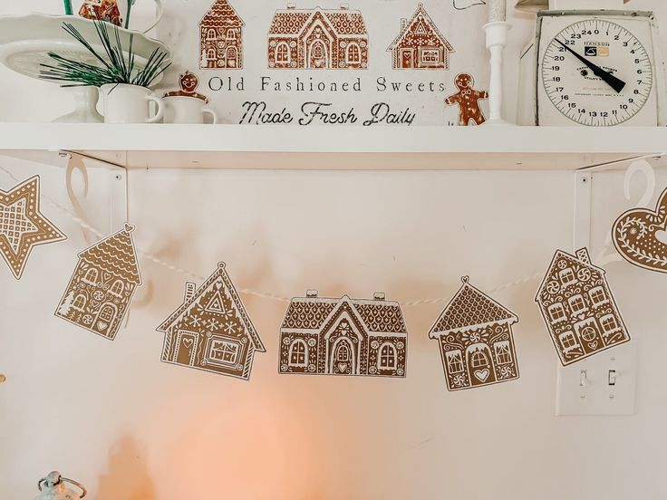
[[[447,389],[472,389],[518,379],[512,325],[517,315],[462,278],[429,336],[440,343]]]

